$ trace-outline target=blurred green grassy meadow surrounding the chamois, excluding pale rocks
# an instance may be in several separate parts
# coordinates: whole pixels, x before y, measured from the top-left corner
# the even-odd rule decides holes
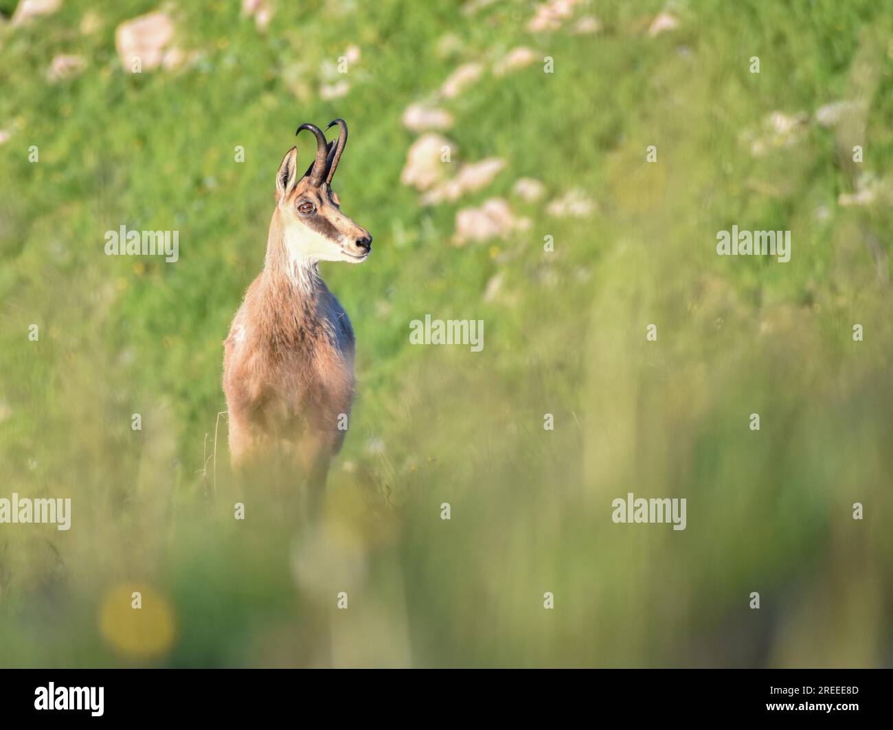
[[[270,0],[265,28],[222,0],[15,5],[0,498],[72,515],[0,524],[0,666],[893,664],[889,6],[582,0],[536,30],[532,0]],[[115,29],[157,10],[184,59],[131,73]],[[52,78],[59,54],[82,68]],[[451,170],[504,169],[424,204],[416,103],[452,115]],[[221,342],[282,156],[313,157],[296,127],[335,117],[333,187],[375,243],[321,264],[358,397],[308,521],[230,475]],[[457,245],[492,198],[528,224]],[[178,230],[179,261],[106,256],[123,225]],[[789,230],[790,261],[718,256],[732,226]],[[426,314],[482,319],[483,350],[410,344]],[[686,529],[614,524],[630,492],[686,498]]]

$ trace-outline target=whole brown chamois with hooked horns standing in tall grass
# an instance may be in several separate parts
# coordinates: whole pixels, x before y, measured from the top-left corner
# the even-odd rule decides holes
[[[319,127],[298,127],[296,134],[316,137],[316,157],[301,178],[296,147],[282,160],[263,271],[223,343],[234,469],[284,463],[310,485],[312,502],[344,442],[355,396],[354,329],[319,262],[360,263],[372,245],[330,187],[347,142],[344,120],[326,129],[336,124],[338,140],[328,145]]]

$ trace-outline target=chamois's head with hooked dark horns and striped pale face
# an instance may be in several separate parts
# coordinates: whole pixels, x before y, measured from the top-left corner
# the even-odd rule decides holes
[[[313,124],[302,124],[302,129],[316,137],[316,159],[303,178],[297,177],[297,147],[288,150],[276,174],[276,212],[284,230],[288,256],[296,263],[314,264],[317,261],[365,261],[372,249],[372,236],[365,228],[341,212],[341,201],[331,189],[332,177],[338,160],[347,144],[345,120],[330,122],[338,125],[338,140],[328,145],[321,129]]]

